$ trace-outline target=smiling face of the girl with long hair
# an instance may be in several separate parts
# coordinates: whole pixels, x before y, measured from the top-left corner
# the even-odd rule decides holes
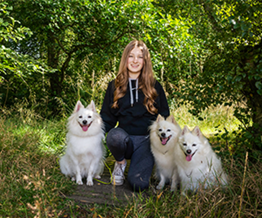
[[[127,59],[127,69],[128,69],[128,75],[132,79],[136,79],[141,69],[144,66],[144,58],[143,58],[143,52],[141,48],[134,47]]]

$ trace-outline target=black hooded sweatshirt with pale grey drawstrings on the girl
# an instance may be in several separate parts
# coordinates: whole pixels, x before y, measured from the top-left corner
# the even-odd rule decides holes
[[[105,124],[105,131],[108,132],[118,123],[118,127],[124,129],[129,135],[148,135],[148,127],[156,120],[158,114],[150,114],[143,105],[145,98],[144,93],[138,90],[138,102],[135,100],[135,90],[133,91],[134,104],[130,104],[130,89],[127,86],[127,92],[124,97],[118,99],[118,108],[112,108],[114,99],[114,80],[108,84],[105,98],[103,101],[100,115]],[[135,87],[135,80],[132,80],[132,88]],[[154,106],[158,109],[158,113],[165,118],[170,115],[169,107],[165,92],[158,81],[155,82],[157,98]]]

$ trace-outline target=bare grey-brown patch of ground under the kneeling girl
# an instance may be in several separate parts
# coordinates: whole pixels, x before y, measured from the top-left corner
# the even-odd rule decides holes
[[[106,159],[107,165],[110,167],[111,172],[114,168],[114,159],[112,157]],[[129,167],[129,161],[125,170],[125,178],[127,178],[127,172]],[[104,173],[101,175],[101,181],[109,183],[110,173],[107,167],[105,167]],[[126,204],[134,193],[130,188],[127,181],[122,186],[113,186],[111,184],[103,184],[96,180],[93,186],[78,185],[75,192],[67,196],[70,199],[78,200],[82,203],[98,203],[98,204]]]

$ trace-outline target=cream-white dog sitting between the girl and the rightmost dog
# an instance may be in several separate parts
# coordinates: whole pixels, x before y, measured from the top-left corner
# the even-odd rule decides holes
[[[160,177],[157,189],[162,189],[167,180],[172,180],[171,191],[176,189],[177,169],[173,159],[180,134],[181,128],[173,115],[168,116],[165,120],[159,114],[156,121],[150,126],[151,152],[155,158],[157,176]]]

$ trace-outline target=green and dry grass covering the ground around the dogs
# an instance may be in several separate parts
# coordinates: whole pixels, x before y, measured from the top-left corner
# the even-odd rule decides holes
[[[172,111],[182,128],[199,125],[212,142],[225,147],[222,137],[220,141],[214,137],[214,126],[236,130],[238,122],[231,110],[204,111],[204,121],[192,117],[186,107]],[[0,116],[0,217],[262,217],[259,154],[245,162],[245,153],[239,158],[219,153],[230,177],[225,189],[200,189],[195,195],[183,196],[169,192],[168,187],[157,191],[157,181],[152,179],[146,194],[130,197],[122,207],[69,200],[64,196],[72,193],[75,185],[65,180],[57,162],[65,146],[65,124],[65,120],[48,121],[32,114]]]

